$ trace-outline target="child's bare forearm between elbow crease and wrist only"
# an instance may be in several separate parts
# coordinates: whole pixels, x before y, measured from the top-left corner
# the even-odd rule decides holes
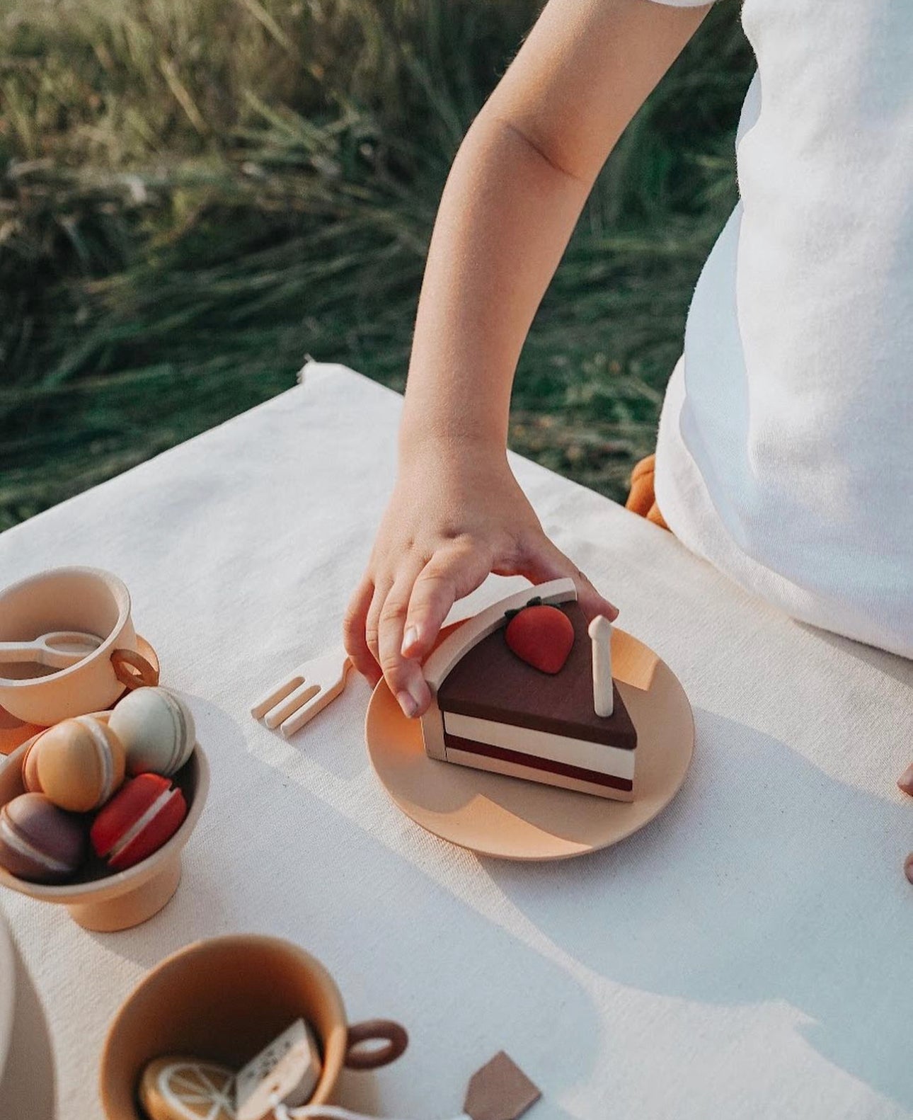
[[[520,351],[589,184],[493,114],[473,124],[440,203],[419,300],[401,429],[500,450]]]

